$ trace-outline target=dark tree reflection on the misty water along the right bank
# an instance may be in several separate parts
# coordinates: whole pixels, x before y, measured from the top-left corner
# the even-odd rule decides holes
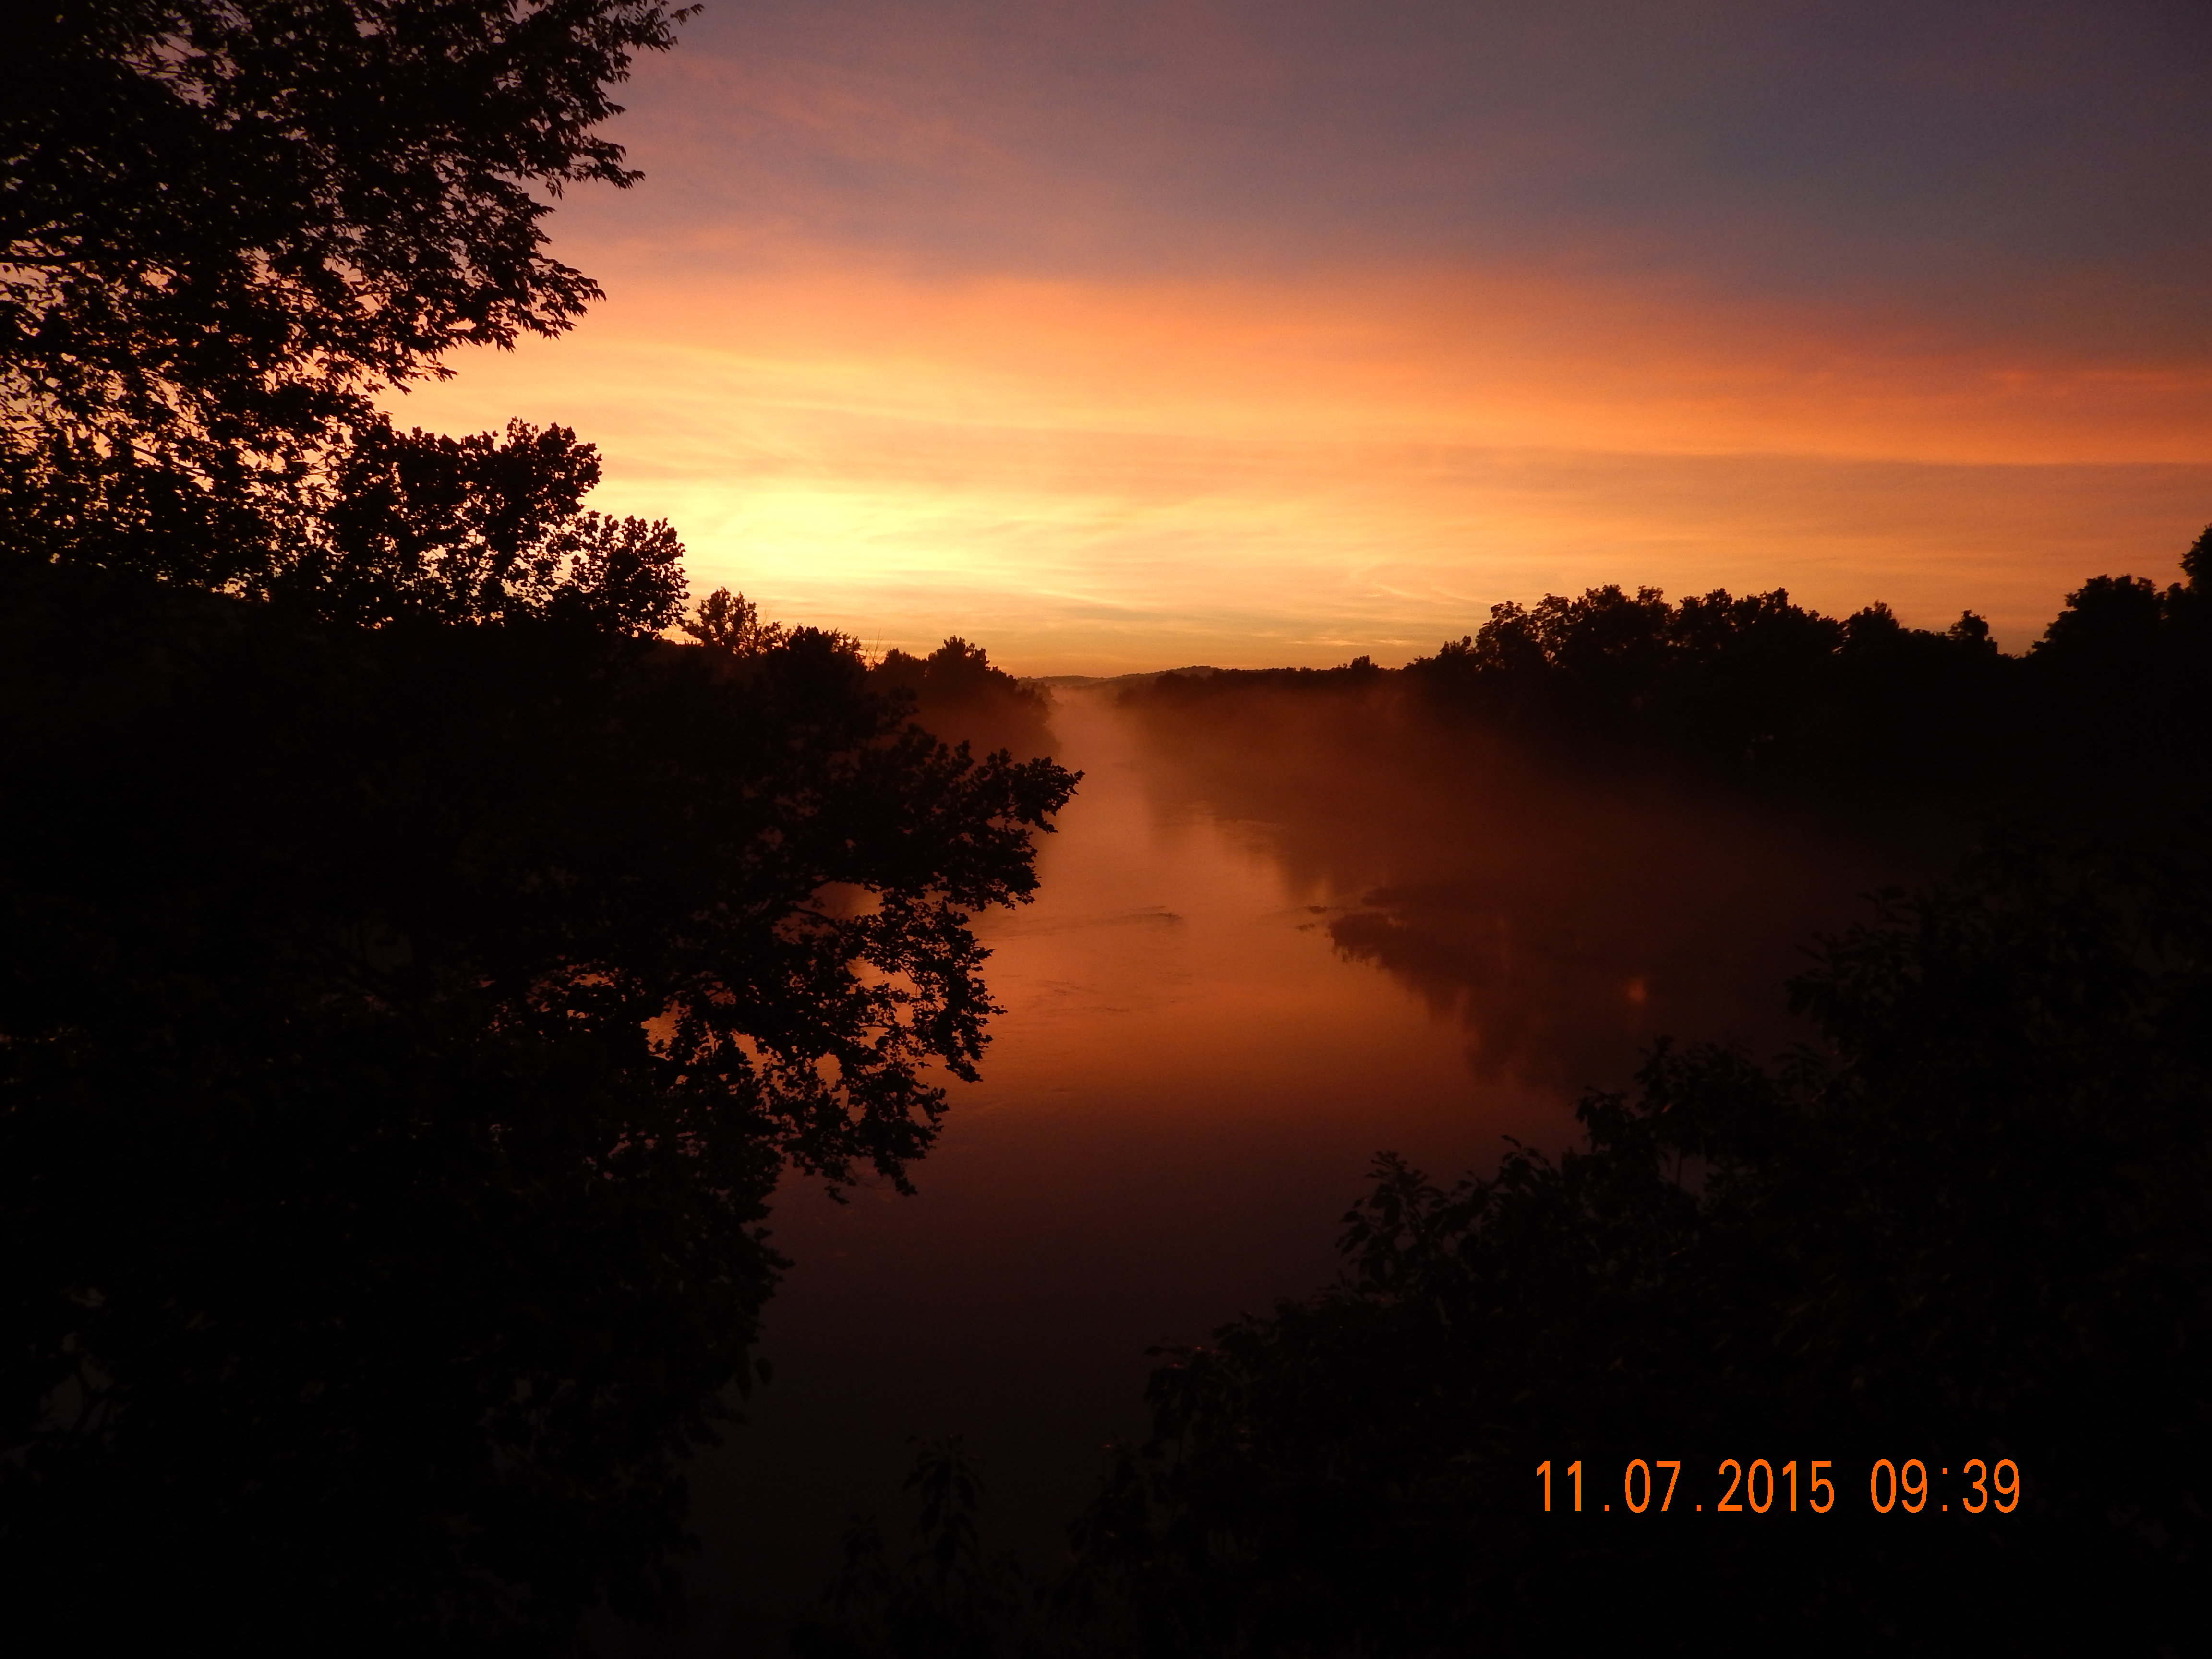
[[[1781,1046],[1807,938],[1955,838],[1531,765],[1389,690],[1199,714],[1135,699],[1155,799],[1243,823],[1347,958],[1464,1029],[1484,1095],[1619,1086],[1661,1033]]]

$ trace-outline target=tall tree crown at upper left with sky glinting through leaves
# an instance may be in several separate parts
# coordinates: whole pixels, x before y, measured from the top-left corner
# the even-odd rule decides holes
[[[681,15],[22,11],[0,64],[0,540],[204,586],[292,568],[352,473],[405,447],[376,389],[597,296],[540,221],[566,186],[637,179],[597,131],[608,86]]]

